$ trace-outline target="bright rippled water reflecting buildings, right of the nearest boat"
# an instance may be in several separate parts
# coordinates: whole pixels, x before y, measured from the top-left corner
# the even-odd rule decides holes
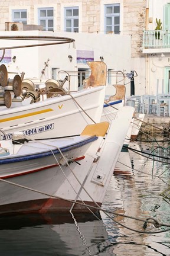
[[[130,147],[139,151],[146,150],[148,145],[136,145],[130,143]],[[160,149],[159,149],[160,150]],[[157,152],[158,153],[158,152]],[[124,215],[140,217],[155,217],[161,222],[170,224],[170,204],[160,196],[160,192],[167,188],[169,181],[169,165],[162,162],[153,162],[141,154],[129,151],[122,155],[120,153],[120,162],[117,163],[116,172],[110,182],[104,200],[104,209],[109,209]],[[161,156],[161,155],[160,155]],[[121,161],[122,160],[122,161]],[[129,165],[126,163],[128,163]],[[129,166],[129,167],[128,167]],[[119,172],[117,172],[119,169]],[[164,172],[165,171],[165,172]],[[126,175],[123,175],[125,172]],[[156,177],[159,176],[160,177]],[[114,217],[114,216],[113,216]],[[117,228],[115,246],[113,252],[116,255],[170,255],[170,231],[156,234],[138,233],[143,231],[143,223],[135,219],[129,219],[123,216],[114,217],[116,222],[110,221],[109,217],[102,213],[104,223]],[[148,225],[147,232],[163,231],[168,228],[155,229],[153,225]],[[115,231],[107,228],[109,236],[115,237]]]

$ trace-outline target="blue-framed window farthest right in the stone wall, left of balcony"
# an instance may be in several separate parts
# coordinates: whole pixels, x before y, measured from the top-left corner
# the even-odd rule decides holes
[[[120,33],[120,5],[105,5],[105,31],[106,34]]]

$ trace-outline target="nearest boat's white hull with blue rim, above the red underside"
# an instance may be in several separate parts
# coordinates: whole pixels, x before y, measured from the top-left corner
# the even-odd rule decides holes
[[[61,149],[61,153],[57,150],[53,153],[51,151],[29,153],[27,145],[23,145],[19,151],[28,151],[27,155],[18,153],[17,156],[14,154],[11,158],[6,156],[6,158],[0,159],[0,205],[12,204],[14,206],[15,203],[20,203],[22,206],[22,202],[25,204],[27,201],[30,203],[39,200],[40,202],[41,200],[48,201],[49,197],[56,199],[54,201],[58,201],[58,199],[60,201],[60,197],[66,199],[66,202],[74,200],[100,146],[101,138],[95,139],[96,137],[92,137],[92,140],[85,141],[84,145],[82,145],[84,142],[82,141],[79,143],[80,145],[76,143],[76,145],[64,147]],[[46,143],[50,144],[49,141]],[[31,144],[35,145],[36,143]],[[33,145],[29,143],[29,147],[34,151]],[[39,145],[40,142],[37,143],[37,148],[40,147]],[[71,161],[73,159],[73,162],[67,159],[71,159]],[[68,162],[70,162],[69,167]],[[83,198],[83,200],[85,199],[86,197]],[[63,204],[61,203],[61,205]],[[46,210],[48,206],[47,203]],[[60,206],[58,207],[60,209]],[[53,208],[55,209],[56,206]],[[38,209],[37,206],[36,209]],[[41,205],[38,210],[40,209]],[[27,212],[28,209],[25,211]]]

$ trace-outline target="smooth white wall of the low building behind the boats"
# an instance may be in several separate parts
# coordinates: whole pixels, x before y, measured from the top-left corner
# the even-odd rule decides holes
[[[23,35],[22,31],[1,31],[0,36]],[[24,31],[24,35],[30,36],[58,36],[58,33],[50,31]],[[94,60],[100,61],[100,56],[104,57],[104,62],[107,69],[115,69],[124,73],[130,72],[130,36],[102,35],[102,34],[87,34],[87,33],[60,33],[60,37],[71,37],[75,39],[74,44],[60,44],[55,46],[29,47],[21,49],[12,49],[12,56],[16,56],[15,63],[7,65],[8,71],[25,72],[24,78],[39,79],[41,71],[44,68],[44,62],[50,59],[48,68],[45,71],[43,80],[51,78],[51,69],[56,68],[58,71],[78,71],[79,68],[88,69],[87,63],[77,63],[77,50],[89,50],[94,52]],[[40,42],[42,43],[42,42]],[[14,41],[3,40],[1,47],[14,46],[21,44],[31,44],[31,41]],[[124,47],[126,44],[127,47]],[[72,62],[68,59],[68,55],[73,56]],[[9,74],[10,75],[10,74]],[[66,73],[60,76],[64,79]],[[127,81],[127,79],[126,79]],[[115,80],[112,79],[114,84]],[[122,81],[122,84],[124,81]],[[66,85],[68,87],[68,82]],[[126,87],[126,94],[130,95],[130,85]],[[71,90],[77,90],[77,78],[71,76]]]

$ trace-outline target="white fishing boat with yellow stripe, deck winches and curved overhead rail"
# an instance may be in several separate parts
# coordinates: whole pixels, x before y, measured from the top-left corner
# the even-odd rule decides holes
[[[4,39],[4,37],[3,37]],[[11,36],[8,40],[35,40],[35,37]],[[51,40],[50,44],[71,43],[74,40],[64,37],[36,37],[37,40]],[[56,41],[56,42],[55,42]],[[36,44],[36,46],[45,43]],[[13,49],[31,47],[2,47]],[[2,60],[2,59],[1,59]],[[101,69],[102,73],[103,70]],[[70,92],[63,89],[64,81],[48,79],[44,88],[35,88],[30,79],[24,79],[24,72],[14,78],[4,64],[0,66],[0,129],[8,139],[15,132],[36,138],[55,138],[80,135],[87,124],[99,123],[103,110],[105,86],[102,82],[95,88]],[[30,104],[31,103],[31,104]],[[6,139],[3,135],[0,139]]]

